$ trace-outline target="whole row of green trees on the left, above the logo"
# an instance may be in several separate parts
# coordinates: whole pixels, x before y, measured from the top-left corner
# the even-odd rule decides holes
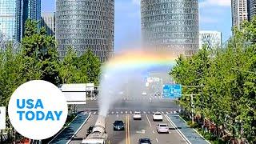
[[[37,22],[26,22],[22,48],[17,51],[10,43],[0,48],[0,106],[7,106],[11,94],[30,80],[41,79],[54,83],[95,83],[101,70],[99,58],[88,50],[81,57],[70,47],[65,58],[58,58],[54,37],[38,30]],[[7,121],[7,129],[10,128]],[[0,142],[1,143],[1,142]]]

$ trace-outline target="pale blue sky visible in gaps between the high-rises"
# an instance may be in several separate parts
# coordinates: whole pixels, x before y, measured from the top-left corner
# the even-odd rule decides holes
[[[231,35],[231,1],[198,0],[200,30],[222,32],[222,41]],[[41,0],[42,12],[55,10],[55,0]],[[115,0],[114,51],[136,48],[141,42],[140,0]]]

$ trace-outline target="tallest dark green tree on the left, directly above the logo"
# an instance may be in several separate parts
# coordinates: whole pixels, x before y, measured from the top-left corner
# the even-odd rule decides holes
[[[40,70],[42,80],[52,82],[55,85],[61,83],[58,72],[58,52],[54,37],[47,36],[46,30],[38,31],[38,23],[26,21],[25,37],[22,38],[23,56],[29,62],[26,70],[33,67]]]

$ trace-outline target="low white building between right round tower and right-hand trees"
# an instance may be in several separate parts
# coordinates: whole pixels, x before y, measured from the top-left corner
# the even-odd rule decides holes
[[[222,48],[222,33],[218,31],[200,31],[199,47],[207,46],[210,50]]]

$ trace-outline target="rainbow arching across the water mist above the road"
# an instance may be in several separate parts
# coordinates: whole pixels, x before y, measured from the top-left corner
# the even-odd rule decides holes
[[[177,56],[174,57],[171,54],[133,50],[115,55],[109,62],[106,62],[104,68],[107,70],[127,70],[174,66],[176,58]]]

